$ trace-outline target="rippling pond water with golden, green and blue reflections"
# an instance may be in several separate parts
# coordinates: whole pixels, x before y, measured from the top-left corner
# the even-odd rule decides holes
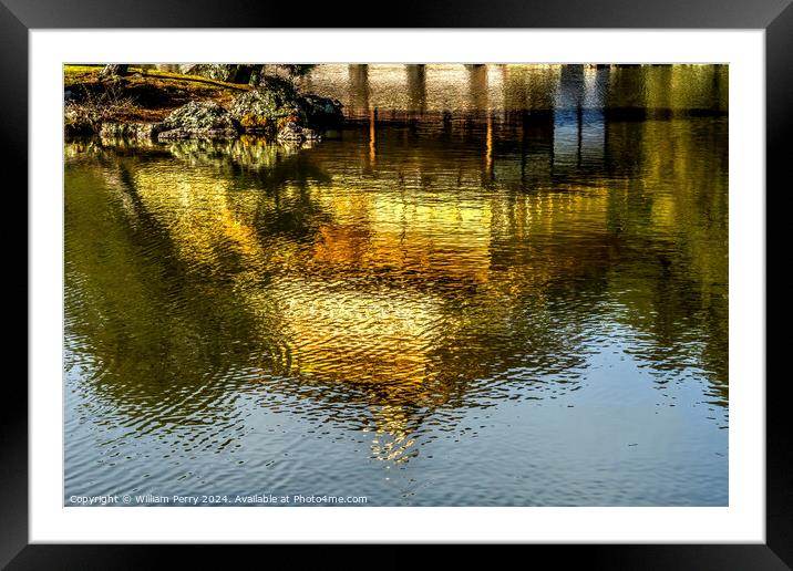
[[[65,145],[65,505],[728,505],[727,68],[305,83],[312,146]]]

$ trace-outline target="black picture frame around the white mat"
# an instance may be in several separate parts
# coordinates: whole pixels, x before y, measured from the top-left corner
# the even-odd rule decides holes
[[[766,187],[782,186],[793,156],[793,6],[791,0],[472,0],[457,2],[406,1],[388,17],[385,4],[327,3],[296,9],[271,0],[137,0],[116,3],[99,0],[0,0],[0,129],[3,163],[22,174],[14,187],[28,188],[28,33],[31,29],[96,28],[609,28],[609,29],[763,29],[766,79]],[[379,15],[378,15],[379,14]],[[101,55],[101,51],[97,52]],[[24,168],[20,168],[24,165]],[[789,186],[789,185],[786,185]],[[11,187],[7,188],[8,190]],[[784,188],[777,188],[779,191]],[[766,196],[769,195],[766,190]],[[25,220],[27,198],[17,217]],[[768,209],[766,209],[768,210]],[[769,221],[770,222],[770,221]],[[766,222],[766,229],[772,225]],[[27,224],[27,222],[23,222]],[[27,235],[27,231],[25,231]],[[766,230],[766,243],[774,240]],[[9,238],[7,238],[8,240]],[[9,242],[14,243],[14,242]],[[27,257],[27,248],[17,253]],[[27,260],[22,261],[27,266]],[[27,276],[27,271],[24,272]],[[24,288],[28,281],[13,283]],[[30,303],[30,298],[29,303]],[[27,328],[25,328],[27,330]],[[21,338],[21,335],[20,335]],[[35,342],[35,340],[25,341]],[[766,354],[774,354],[768,338]],[[14,382],[11,382],[11,381]],[[28,388],[12,375],[6,378],[7,406],[0,415],[0,565],[8,569],[143,569],[156,567],[161,553],[173,552],[181,567],[215,567],[218,557],[208,546],[85,546],[28,544]],[[763,380],[758,380],[762,383]],[[766,542],[763,544],[652,546],[531,546],[554,558],[556,564],[585,560],[588,567],[608,569],[756,569],[793,567],[792,432],[786,427],[786,378],[771,378],[766,394]],[[9,403],[14,403],[11,407]],[[235,546],[235,557],[260,547]],[[267,547],[272,550],[274,548]],[[292,548],[293,549],[293,548]],[[332,558],[329,547],[322,559]],[[301,558],[307,554],[301,550]],[[532,553],[534,554],[534,553]],[[539,553],[537,553],[539,554]],[[219,556],[223,557],[223,556]],[[305,559],[301,564],[306,564]],[[218,563],[219,565],[219,563]]]

